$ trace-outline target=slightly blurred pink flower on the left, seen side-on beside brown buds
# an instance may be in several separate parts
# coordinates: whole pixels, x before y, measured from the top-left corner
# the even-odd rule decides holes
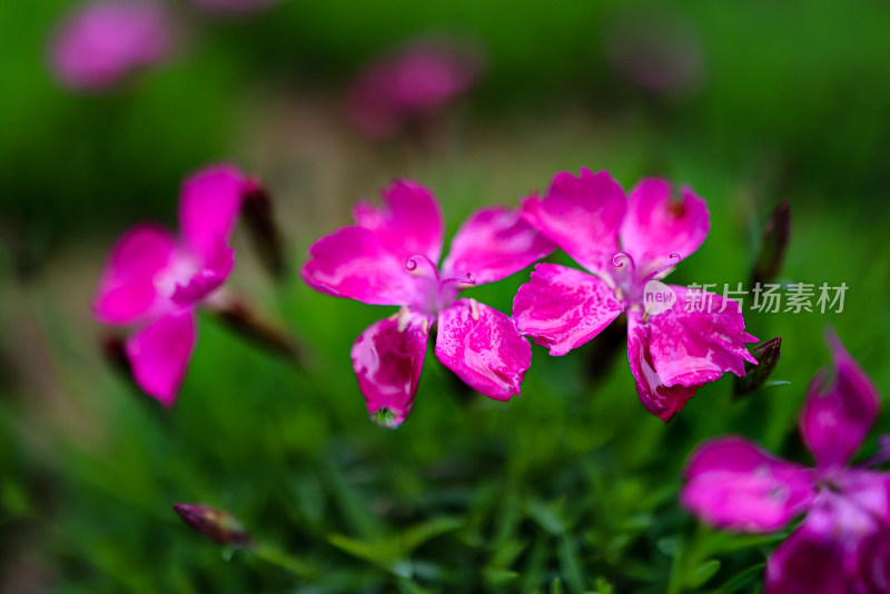
[[[111,248],[93,311],[102,324],[136,328],[125,343],[134,379],[165,406],[176,402],[195,349],[197,307],[235,264],[228,237],[253,187],[233,167],[202,169],[182,185],[178,238],[144,224]]]

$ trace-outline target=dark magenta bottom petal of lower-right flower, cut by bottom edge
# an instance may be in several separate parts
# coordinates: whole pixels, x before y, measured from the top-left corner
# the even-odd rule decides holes
[[[767,561],[764,594],[849,593],[843,551],[808,531],[805,521]]]

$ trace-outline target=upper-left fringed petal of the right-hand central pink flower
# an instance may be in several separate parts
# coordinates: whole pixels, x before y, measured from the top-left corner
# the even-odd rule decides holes
[[[561,247],[587,270],[612,274],[619,249],[619,227],[624,217],[624,190],[606,171],[581,169],[553,177],[547,195],[530,197],[522,212],[532,227]]]

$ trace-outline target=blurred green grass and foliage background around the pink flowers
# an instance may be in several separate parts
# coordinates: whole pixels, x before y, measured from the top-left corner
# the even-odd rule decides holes
[[[172,59],[86,96],[47,66],[72,6],[0,3],[0,592],[760,591],[777,537],[700,527],[680,471],[728,432],[807,462],[795,419],[825,326],[888,392],[890,6],[283,0],[231,18],[170,2]],[[422,142],[362,138],[349,82],[429,32],[484,50],[478,87]],[[679,82],[646,88],[622,56]],[[205,315],[167,413],[103,362],[89,300],[113,239],[174,225],[181,179],[219,160],[273,191],[290,258],[270,280],[239,230],[230,285],[307,362]],[[788,201],[782,279],[847,283],[844,311],[746,314],[755,336],[782,336],[774,378],[790,385],[733,402],[725,377],[669,425],[622,353],[591,370],[596,340],[563,358],[534,347],[510,404],[463,394],[428,356],[406,424],[373,425],[348,352],[390,311],[309,290],[306,248],[395,177],[431,187],[453,232],[578,167],[708,199],[711,234],[676,284],[744,281]],[[524,279],[473,296],[508,311]],[[220,551],[175,502],[229,509],[260,545]]]

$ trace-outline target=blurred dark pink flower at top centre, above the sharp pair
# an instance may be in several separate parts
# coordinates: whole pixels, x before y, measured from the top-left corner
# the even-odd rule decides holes
[[[481,67],[465,48],[416,41],[359,76],[349,91],[349,116],[372,138],[393,136],[466,92]]]

